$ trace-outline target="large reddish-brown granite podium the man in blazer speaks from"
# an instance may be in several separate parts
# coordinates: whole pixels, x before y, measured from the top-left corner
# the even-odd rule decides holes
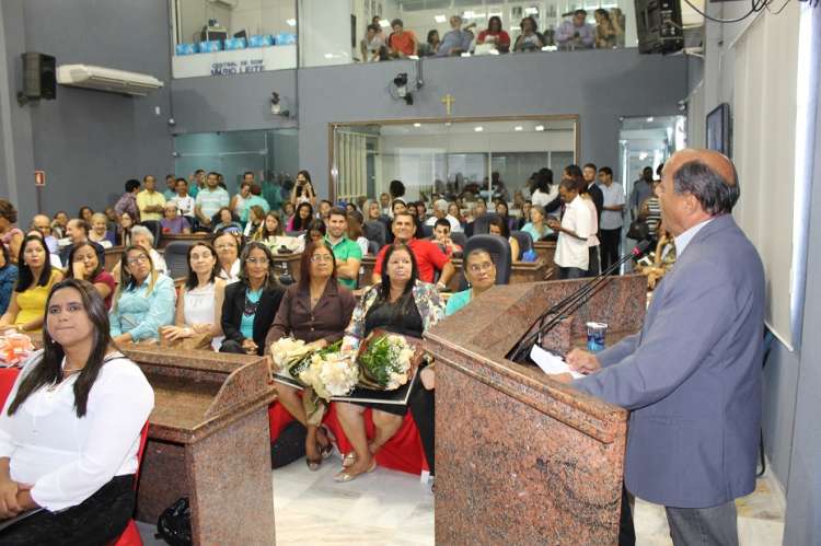
[[[614,545],[627,411],[506,355],[585,280],[497,286],[426,334],[436,359],[436,542]],[[646,278],[612,277],[569,316],[637,332]],[[563,347],[564,350],[569,348]]]

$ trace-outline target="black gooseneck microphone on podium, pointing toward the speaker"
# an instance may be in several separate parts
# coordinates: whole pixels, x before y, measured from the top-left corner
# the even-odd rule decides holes
[[[629,253],[622,256],[618,262],[612,264],[597,277],[593,277],[591,280],[579,287],[570,295],[564,298],[558,303],[547,309],[536,320],[536,323],[539,324],[536,329],[534,332],[531,332],[530,334],[525,334],[524,337],[522,337],[522,339],[520,339],[519,342],[513,346],[513,348],[507,355],[507,358],[509,360],[512,360],[513,362],[527,362],[527,358],[530,355],[530,350],[533,348],[533,345],[541,344],[542,336],[544,334],[553,329],[565,317],[578,310],[589,299],[589,295],[591,295],[610,279],[611,272],[618,269],[625,262],[634,257],[641,256],[645,252],[647,252],[652,242],[646,239],[640,241],[636,246],[633,247]],[[545,324],[545,320],[550,315],[554,316],[547,324]]]

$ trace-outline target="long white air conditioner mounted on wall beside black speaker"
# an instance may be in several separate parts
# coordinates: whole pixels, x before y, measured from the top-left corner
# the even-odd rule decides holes
[[[137,96],[146,96],[163,86],[162,81],[153,75],[92,65],[62,65],[57,67],[57,83]]]

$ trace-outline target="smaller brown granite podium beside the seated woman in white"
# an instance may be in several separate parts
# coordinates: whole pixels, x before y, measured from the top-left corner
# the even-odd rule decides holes
[[[127,345],[154,388],[137,519],[187,496],[195,545],[275,544],[268,404],[259,357]]]

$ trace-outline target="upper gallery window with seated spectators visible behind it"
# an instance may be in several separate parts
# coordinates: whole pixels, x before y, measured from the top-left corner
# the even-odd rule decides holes
[[[583,8],[587,16],[573,22]],[[463,57],[509,51],[635,47],[633,0],[300,0],[300,66],[385,61],[404,57]],[[451,18],[462,19],[462,35]],[[499,18],[501,31],[489,30]],[[522,21],[534,32],[522,36]],[[394,21],[401,21],[394,26]],[[340,24],[346,22],[346,24]],[[347,24],[349,22],[349,24]],[[369,26],[375,25],[371,31]],[[565,30],[559,32],[559,27]],[[578,36],[577,36],[578,34]],[[522,36],[522,37],[520,37]],[[517,47],[517,45],[519,47]]]

